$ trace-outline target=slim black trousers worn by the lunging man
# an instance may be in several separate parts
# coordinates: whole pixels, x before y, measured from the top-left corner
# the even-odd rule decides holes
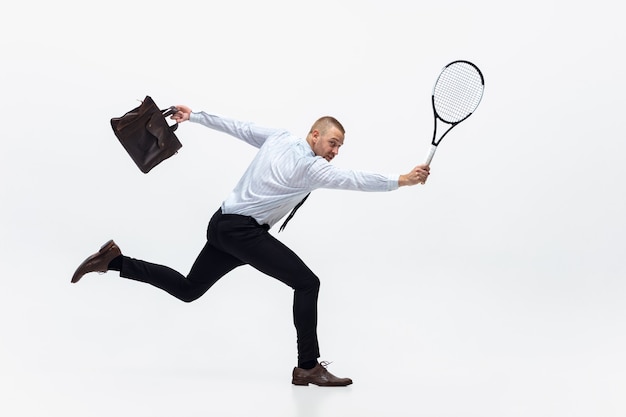
[[[320,281],[291,249],[269,234],[267,225],[252,217],[222,214],[218,210],[207,231],[207,243],[187,277],[166,266],[124,256],[120,276],[146,282],[174,297],[191,302],[200,298],[218,279],[241,265],[289,285],[294,290],[293,320],[298,362],[317,359],[317,296]]]

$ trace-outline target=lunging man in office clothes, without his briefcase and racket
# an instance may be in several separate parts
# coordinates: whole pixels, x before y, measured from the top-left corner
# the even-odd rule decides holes
[[[326,369],[325,362],[318,362],[319,279],[269,229],[292,211],[286,222],[289,221],[298,203],[315,189],[391,191],[400,186],[424,184],[429,167],[419,165],[407,174],[388,176],[331,165],[343,145],[345,131],[336,119],[328,116],[317,120],[303,140],[284,130],[192,112],[187,106],[177,107],[178,112],[172,116],[176,122],[200,123],[259,148],[239,183],[211,218],[207,243],[191,271],[185,277],[166,266],[123,256],[111,240],[78,267],[72,282],[78,282],[89,272],[119,271],[122,277],[149,283],[191,302],[232,269],[251,265],[294,290],[298,365],[292,372],[292,383],[350,385],[351,379],[334,376]]]

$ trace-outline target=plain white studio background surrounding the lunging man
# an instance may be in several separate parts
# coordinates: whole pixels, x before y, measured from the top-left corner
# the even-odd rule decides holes
[[[623,416],[626,34],[618,2],[22,1],[0,15],[0,414]],[[279,238],[320,276],[348,388],[293,387],[291,290],[249,267],[185,304],[115,273],[114,238],[186,273],[254,149],[190,123],[144,175],[109,125],[152,96],[404,173],[440,69],[485,74],[425,186],[320,190]],[[273,232],[275,233],[275,232]]]

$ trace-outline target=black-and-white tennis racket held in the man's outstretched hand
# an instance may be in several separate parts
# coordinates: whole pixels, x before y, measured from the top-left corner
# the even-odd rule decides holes
[[[433,87],[433,114],[435,128],[426,165],[435,156],[437,146],[453,127],[467,119],[480,104],[485,89],[485,79],[478,67],[469,61],[454,61],[446,65]],[[438,122],[449,125],[437,139]]]

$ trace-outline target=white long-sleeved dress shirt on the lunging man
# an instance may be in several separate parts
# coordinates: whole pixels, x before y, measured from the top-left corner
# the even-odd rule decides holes
[[[317,188],[391,191],[399,175],[341,169],[316,156],[306,140],[281,129],[193,112],[191,122],[227,133],[259,148],[254,160],[222,203],[224,214],[253,217],[270,227]]]

